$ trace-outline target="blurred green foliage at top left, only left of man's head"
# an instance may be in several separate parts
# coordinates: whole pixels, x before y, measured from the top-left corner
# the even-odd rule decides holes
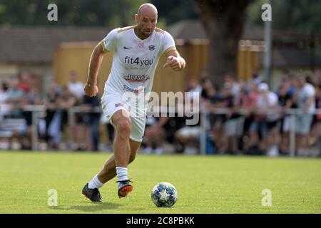
[[[47,6],[58,6],[58,21],[48,21]],[[0,0],[3,26],[128,26],[143,0]]]

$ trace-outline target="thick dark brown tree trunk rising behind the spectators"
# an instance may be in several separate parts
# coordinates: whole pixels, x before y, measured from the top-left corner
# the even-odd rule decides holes
[[[224,76],[234,74],[237,69],[238,41],[250,0],[195,1],[209,39],[208,74],[215,86],[222,86]]]

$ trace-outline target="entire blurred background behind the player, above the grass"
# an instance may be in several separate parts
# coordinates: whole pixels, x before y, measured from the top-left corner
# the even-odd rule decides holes
[[[0,0],[2,150],[112,150],[100,96],[113,54],[94,98],[83,93],[88,61],[146,2],[187,63],[156,68],[153,91],[192,92],[200,122],[148,116],[141,152],[320,155],[321,1],[313,0]]]

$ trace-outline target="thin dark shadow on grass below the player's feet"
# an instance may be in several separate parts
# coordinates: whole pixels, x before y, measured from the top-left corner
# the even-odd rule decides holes
[[[84,205],[75,205],[71,207],[49,207],[50,209],[54,210],[62,210],[62,211],[68,211],[68,210],[79,210],[82,212],[99,212],[105,209],[117,209],[120,206],[120,204],[113,204],[111,202],[101,202],[101,203],[91,203],[86,202]]]

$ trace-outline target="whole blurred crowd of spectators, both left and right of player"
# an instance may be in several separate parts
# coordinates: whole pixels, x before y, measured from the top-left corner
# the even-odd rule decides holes
[[[24,119],[26,127],[14,131],[12,138],[19,141],[21,149],[31,150],[32,110],[26,105],[44,105],[39,139],[48,150],[100,150],[101,125],[106,125],[103,129],[111,145],[113,127],[102,121],[100,98],[83,93],[83,83],[75,72],[69,73],[65,86],[51,78],[45,94],[40,82],[38,76],[21,72],[17,78],[1,83],[0,133],[7,118]],[[297,151],[320,147],[317,143],[321,143],[321,113],[315,114],[321,108],[320,71],[300,76],[285,74],[276,90],[254,72],[249,81],[226,75],[220,88],[215,88],[210,78],[201,76],[190,80],[186,91],[191,92],[192,101],[198,96],[201,111],[206,108],[209,112],[205,118],[205,149],[209,154],[287,155],[292,125],[289,109],[299,111],[295,115]],[[80,109],[70,115],[73,107]],[[200,122],[186,125],[186,119],[147,117],[143,152],[199,153]]]

